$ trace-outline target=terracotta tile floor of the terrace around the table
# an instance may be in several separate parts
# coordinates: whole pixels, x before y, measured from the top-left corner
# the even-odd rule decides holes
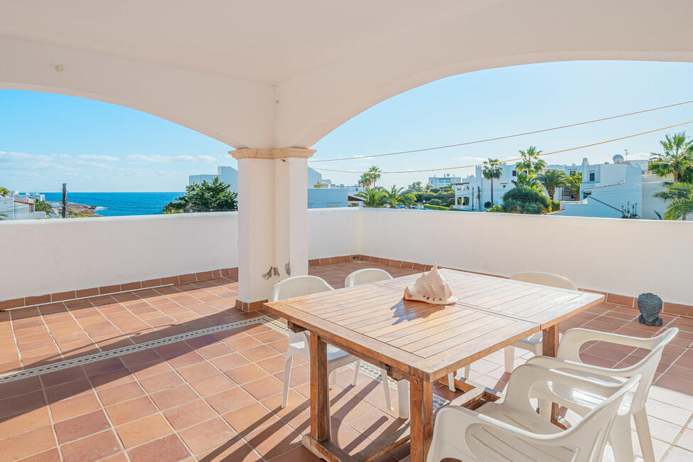
[[[335,287],[370,263],[311,268]],[[385,268],[393,276],[412,270]],[[21,308],[0,313],[0,373],[53,364],[149,340],[255,318],[233,304],[237,283],[214,279]],[[612,303],[574,316],[583,326],[651,336],[661,328],[635,321]],[[681,329],[667,346],[648,412],[657,460],[693,460],[693,318],[663,316]],[[281,409],[284,333],[265,323],[227,329],[98,362],[0,384],[0,461],[313,461],[300,444],[309,429],[309,371],[295,360],[289,406]],[[518,356],[522,363],[528,353]],[[599,343],[587,362],[629,365],[643,353]],[[471,380],[503,390],[503,355],[472,365]],[[379,382],[340,370],[331,390],[333,439],[354,453],[404,424],[384,409]],[[436,387],[450,398],[446,387]],[[397,393],[391,390],[397,409]],[[636,453],[639,453],[635,444]],[[406,456],[407,445],[382,457]],[[607,453],[605,460],[609,460]]]

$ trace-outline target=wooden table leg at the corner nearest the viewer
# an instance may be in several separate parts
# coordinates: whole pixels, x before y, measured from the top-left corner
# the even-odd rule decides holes
[[[412,462],[424,462],[433,438],[433,384],[409,377]]]

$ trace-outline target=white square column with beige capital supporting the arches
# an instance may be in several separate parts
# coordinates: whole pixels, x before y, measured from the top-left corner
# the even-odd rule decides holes
[[[252,311],[277,281],[308,273],[307,160],[303,148],[237,149],[236,306]]]

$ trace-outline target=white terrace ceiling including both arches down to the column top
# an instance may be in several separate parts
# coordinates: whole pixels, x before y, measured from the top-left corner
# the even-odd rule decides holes
[[[0,86],[123,104],[234,147],[311,146],[461,72],[693,61],[691,17],[687,0],[0,0]]]

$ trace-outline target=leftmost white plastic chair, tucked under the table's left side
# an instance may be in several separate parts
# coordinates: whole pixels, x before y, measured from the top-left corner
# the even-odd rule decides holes
[[[334,290],[330,284],[317,276],[294,276],[279,281],[272,286],[269,301],[291,299],[293,297],[315,294],[316,292]],[[289,331],[289,348],[286,350],[286,364],[284,365],[284,395],[281,398],[281,407],[286,407],[289,399],[289,381],[291,379],[291,363],[294,356],[311,358],[311,338],[306,331]],[[351,385],[356,385],[358,380],[358,368],[361,361],[343,350],[327,345],[327,371],[330,376],[330,385],[335,384],[336,370],[339,367],[355,362],[354,379]]]

